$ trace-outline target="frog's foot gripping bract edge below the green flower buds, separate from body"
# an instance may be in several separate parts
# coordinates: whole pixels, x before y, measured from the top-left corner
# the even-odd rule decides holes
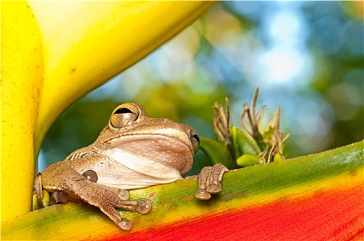
[[[225,171],[229,171],[229,169],[221,163],[216,163],[213,167],[203,167],[197,177],[199,189],[196,192],[196,198],[208,200],[211,198],[211,194],[219,193]]]

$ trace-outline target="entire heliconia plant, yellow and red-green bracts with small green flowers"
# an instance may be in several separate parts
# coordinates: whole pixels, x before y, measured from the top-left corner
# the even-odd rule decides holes
[[[212,4],[1,1],[1,240],[363,238],[364,143],[280,161],[286,138],[279,132],[279,111],[258,139],[249,127],[243,132],[228,122],[224,142],[201,138],[213,162],[230,162],[230,169],[249,166],[226,173],[223,191],[208,202],[194,198],[192,179],[132,190],[131,199],[148,198],[152,211],[143,216],[120,211],[134,223],[131,231],[121,231],[85,204],[30,212],[34,160],[54,119]],[[223,120],[221,107],[215,110]],[[252,110],[245,106],[243,117],[259,123],[263,111],[254,112],[255,104]],[[245,154],[250,156],[241,158]]]

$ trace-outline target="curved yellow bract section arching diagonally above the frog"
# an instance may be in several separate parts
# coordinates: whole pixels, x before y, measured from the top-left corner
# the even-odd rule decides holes
[[[44,42],[45,81],[36,147],[81,96],[183,30],[208,1],[32,1]]]

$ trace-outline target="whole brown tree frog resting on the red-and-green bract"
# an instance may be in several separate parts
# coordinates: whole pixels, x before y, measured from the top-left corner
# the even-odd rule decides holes
[[[128,190],[181,179],[192,168],[198,149],[199,135],[189,125],[150,118],[139,105],[124,103],[114,109],[94,143],[44,169],[36,180],[38,189],[52,192],[51,203],[81,199],[130,230],[132,222],[116,208],[144,214],[151,202],[129,200]],[[219,193],[225,171],[220,163],[204,167],[195,176],[196,198],[207,200]]]

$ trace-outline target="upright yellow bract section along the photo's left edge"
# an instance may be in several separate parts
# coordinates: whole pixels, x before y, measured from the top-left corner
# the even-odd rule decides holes
[[[1,74],[1,220],[6,220],[30,210],[43,81],[41,36],[25,1],[1,1]]]

